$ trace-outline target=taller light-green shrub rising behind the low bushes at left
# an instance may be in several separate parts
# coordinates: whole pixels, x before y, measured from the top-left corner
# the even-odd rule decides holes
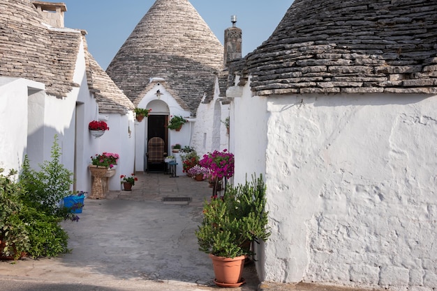
[[[34,171],[29,166],[29,158],[24,158],[20,184],[27,190],[23,199],[28,205],[48,214],[58,215],[59,201],[71,193],[73,173],[61,164],[61,148],[54,136],[52,146],[52,161],[40,164],[40,171]]]

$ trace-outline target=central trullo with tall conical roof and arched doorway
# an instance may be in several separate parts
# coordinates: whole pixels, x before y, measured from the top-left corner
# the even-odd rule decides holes
[[[155,1],[106,70],[135,107],[151,109],[135,123],[136,171],[156,170],[147,163],[147,143],[156,136],[169,155],[176,143],[200,154],[228,147],[221,120],[229,116],[229,105],[218,95],[212,102],[222,70],[223,45],[191,3]],[[188,120],[179,132],[167,127],[172,116]],[[182,162],[175,156],[181,175]]]

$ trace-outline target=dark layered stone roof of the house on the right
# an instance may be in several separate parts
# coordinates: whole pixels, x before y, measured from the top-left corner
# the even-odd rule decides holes
[[[437,1],[295,0],[246,56],[258,95],[437,93]]]

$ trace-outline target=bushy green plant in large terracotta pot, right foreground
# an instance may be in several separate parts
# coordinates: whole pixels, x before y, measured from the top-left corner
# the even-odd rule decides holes
[[[222,198],[205,200],[202,223],[195,235],[199,250],[212,259],[214,283],[237,287],[245,282],[242,272],[246,256],[254,255],[251,242],[266,241],[270,235],[265,184],[261,176],[251,184],[228,187],[227,191]]]

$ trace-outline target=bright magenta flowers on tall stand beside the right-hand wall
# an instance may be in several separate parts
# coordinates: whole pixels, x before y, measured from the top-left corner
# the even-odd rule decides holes
[[[219,181],[234,175],[234,155],[226,149],[221,152],[214,150],[214,152],[203,155],[199,164],[209,170],[209,178],[213,184],[212,196],[216,197]]]

